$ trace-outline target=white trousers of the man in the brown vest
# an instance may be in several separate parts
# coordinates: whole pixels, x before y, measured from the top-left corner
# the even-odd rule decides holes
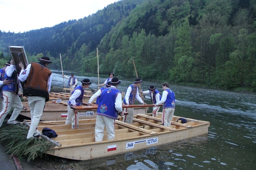
[[[45,97],[28,96],[28,101],[31,110],[31,125],[29,133],[27,135],[27,139],[32,138],[34,134],[38,134],[37,126],[43,114],[43,109],[45,106]]]

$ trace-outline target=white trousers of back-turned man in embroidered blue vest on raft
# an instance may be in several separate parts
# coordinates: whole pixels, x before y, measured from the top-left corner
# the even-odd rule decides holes
[[[104,128],[107,131],[107,140],[115,139],[115,119],[103,115],[97,115],[95,125],[95,142],[103,140]]]

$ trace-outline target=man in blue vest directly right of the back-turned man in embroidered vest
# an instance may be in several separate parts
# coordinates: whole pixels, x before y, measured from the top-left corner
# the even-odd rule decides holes
[[[135,82],[132,85],[129,85],[126,90],[125,98],[123,103],[125,105],[133,105],[135,99],[139,101],[139,103],[146,105],[146,103],[143,102],[141,97],[139,96],[139,90],[138,87],[141,85],[142,80],[140,78],[137,78]],[[125,115],[123,122],[126,123],[132,123],[133,121],[133,108],[126,108],[125,112],[128,112],[128,115]]]

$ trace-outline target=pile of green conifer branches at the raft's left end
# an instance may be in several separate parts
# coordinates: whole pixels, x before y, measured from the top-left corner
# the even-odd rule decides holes
[[[19,159],[27,161],[42,157],[54,145],[41,138],[27,140],[28,127],[24,125],[6,125],[0,127],[0,142],[5,145],[6,153],[16,155]]]

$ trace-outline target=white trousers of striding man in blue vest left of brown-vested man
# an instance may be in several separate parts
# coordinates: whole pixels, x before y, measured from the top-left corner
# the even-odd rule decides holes
[[[2,94],[3,94],[3,108],[0,112],[0,127],[4,121],[4,118],[11,111],[12,107],[14,108],[14,110],[8,122],[14,122],[18,117],[18,115],[21,113],[21,110],[23,108],[21,99],[19,98],[18,94],[14,94],[11,91],[3,91]]]

